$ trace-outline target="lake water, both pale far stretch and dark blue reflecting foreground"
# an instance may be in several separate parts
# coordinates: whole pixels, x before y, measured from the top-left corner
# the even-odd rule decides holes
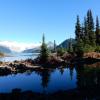
[[[34,55],[32,58],[33,54],[23,54],[5,61],[34,59],[37,54]],[[80,97],[75,100],[100,100],[100,62],[0,76],[0,94],[12,93],[15,89],[46,95],[64,91],[67,96],[71,97],[69,93],[74,93],[75,97]]]

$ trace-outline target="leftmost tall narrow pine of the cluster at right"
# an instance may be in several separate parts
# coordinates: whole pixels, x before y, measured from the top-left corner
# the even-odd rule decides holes
[[[80,37],[81,37],[81,25],[80,25],[79,16],[77,16],[77,22],[76,22],[76,26],[75,26],[75,34],[76,34],[76,41],[79,41]]]

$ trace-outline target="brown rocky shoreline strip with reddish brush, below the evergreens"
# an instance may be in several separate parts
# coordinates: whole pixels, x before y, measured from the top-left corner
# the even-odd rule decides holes
[[[100,53],[92,53],[93,55],[84,54],[83,58],[75,57],[71,54],[65,54],[62,57],[53,54],[49,57],[47,63],[42,64],[39,58],[34,60],[27,59],[22,61],[13,62],[0,62],[0,75],[18,73],[33,70],[43,70],[45,68],[59,68],[60,66],[66,66],[69,64],[92,64],[100,62]],[[95,55],[95,56],[94,56]]]

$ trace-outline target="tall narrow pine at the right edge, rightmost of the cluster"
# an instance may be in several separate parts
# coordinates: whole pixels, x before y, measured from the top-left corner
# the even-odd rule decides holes
[[[96,17],[96,44],[100,46],[100,28],[99,28],[99,19]]]

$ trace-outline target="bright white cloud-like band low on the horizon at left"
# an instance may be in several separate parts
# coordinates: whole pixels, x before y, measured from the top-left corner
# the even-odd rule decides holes
[[[40,46],[40,43],[23,43],[23,42],[16,42],[16,41],[0,41],[0,45],[6,46],[13,51],[21,52],[25,49],[36,48]]]

